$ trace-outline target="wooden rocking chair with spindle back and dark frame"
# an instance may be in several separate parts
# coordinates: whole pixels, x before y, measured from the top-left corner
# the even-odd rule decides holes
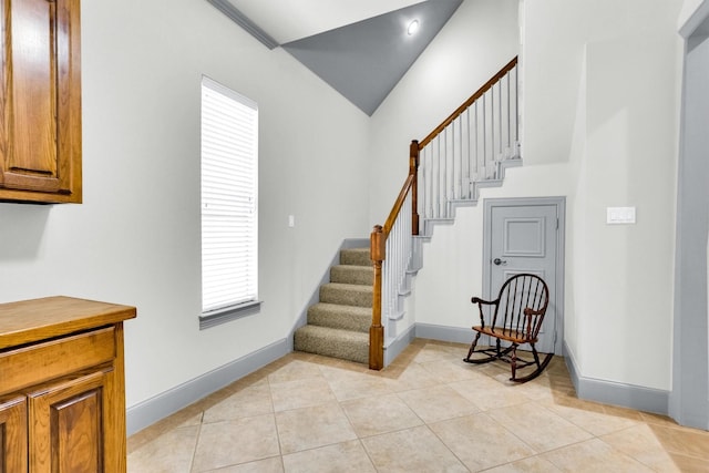
[[[507,279],[502,285],[495,300],[489,301],[473,297],[471,302],[477,304],[480,310],[480,326],[473,327],[477,333],[475,333],[467,357],[463,361],[469,363],[506,361],[512,369],[510,380],[515,382],[525,382],[538,377],[554,356],[553,352],[547,353],[544,360],[540,361],[540,353],[535,348],[548,301],[549,289],[546,282],[538,276],[530,274],[518,274]],[[490,325],[485,323],[483,305],[494,306]],[[475,350],[482,335],[493,337],[495,347]],[[510,346],[502,347],[502,341],[508,342]],[[528,343],[532,347],[534,360],[524,360],[517,357],[517,347],[523,343]],[[484,353],[486,357],[473,359],[471,358],[473,353]],[[525,377],[517,378],[517,369],[531,364],[535,364],[536,369]]]

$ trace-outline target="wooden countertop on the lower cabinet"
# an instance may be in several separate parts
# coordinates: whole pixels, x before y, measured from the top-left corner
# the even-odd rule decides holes
[[[0,350],[135,316],[135,307],[64,296],[0,304]]]

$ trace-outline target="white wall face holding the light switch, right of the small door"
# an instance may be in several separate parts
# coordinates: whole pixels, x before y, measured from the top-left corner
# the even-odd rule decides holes
[[[586,155],[576,194],[584,202],[576,209],[585,263],[573,268],[575,291],[586,301],[575,315],[583,346],[572,347],[584,376],[665,390],[679,130],[676,14],[646,17],[653,33],[587,44]],[[606,225],[609,206],[635,206],[637,224]],[[594,340],[604,340],[604,349]]]

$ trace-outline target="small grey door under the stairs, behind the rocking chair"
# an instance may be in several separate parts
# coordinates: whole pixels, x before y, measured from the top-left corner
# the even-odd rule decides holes
[[[540,333],[537,349],[543,352],[559,352],[555,347],[557,323],[557,254],[559,207],[555,203],[528,203],[514,199],[486,205],[484,261],[490,299],[495,299],[500,288],[510,277],[530,273],[540,276],[549,288],[549,306]],[[522,347],[524,349],[524,347]],[[556,348],[556,349],[555,349]]]

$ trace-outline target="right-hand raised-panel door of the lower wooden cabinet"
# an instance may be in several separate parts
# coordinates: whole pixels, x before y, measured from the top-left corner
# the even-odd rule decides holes
[[[28,394],[31,472],[112,472],[104,465],[106,382],[112,372],[107,368],[78,376]]]

